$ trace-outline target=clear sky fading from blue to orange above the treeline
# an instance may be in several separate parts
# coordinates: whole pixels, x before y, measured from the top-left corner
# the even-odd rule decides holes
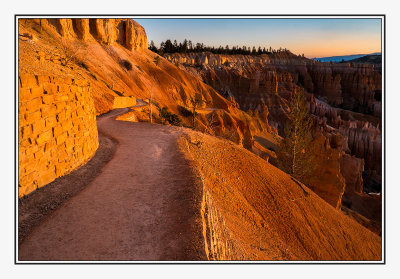
[[[150,19],[135,18],[148,41],[208,46],[287,48],[308,58],[381,52],[381,19]]]

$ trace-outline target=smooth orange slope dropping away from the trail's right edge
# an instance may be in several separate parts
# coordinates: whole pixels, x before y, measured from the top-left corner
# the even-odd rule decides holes
[[[180,148],[203,182],[210,260],[381,260],[379,236],[251,152],[192,131]]]

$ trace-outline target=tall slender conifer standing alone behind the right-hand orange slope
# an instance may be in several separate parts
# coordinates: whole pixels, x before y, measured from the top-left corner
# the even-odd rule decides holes
[[[285,138],[278,152],[279,168],[300,181],[307,178],[314,169],[311,152],[312,119],[302,90],[294,92],[289,105],[288,122],[285,125]]]

